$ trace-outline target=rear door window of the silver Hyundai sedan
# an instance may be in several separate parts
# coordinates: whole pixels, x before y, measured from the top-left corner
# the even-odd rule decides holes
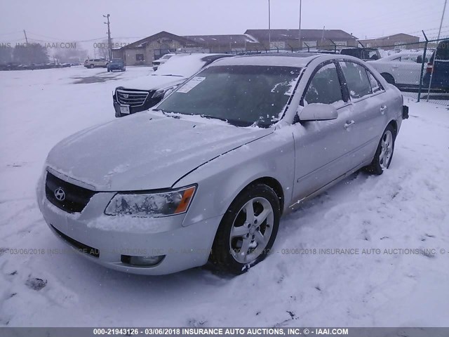
[[[373,93],[365,67],[354,62],[340,62],[340,66],[342,67],[351,98],[363,98]]]

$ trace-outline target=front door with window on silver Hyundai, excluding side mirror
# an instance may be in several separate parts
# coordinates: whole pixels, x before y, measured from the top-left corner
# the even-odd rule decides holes
[[[311,103],[333,105],[337,119],[330,121],[297,121],[293,128],[295,139],[295,185],[293,197],[303,199],[352,169],[349,154],[352,110],[347,91],[342,90],[341,78],[334,62],[316,67],[304,89],[300,105]]]

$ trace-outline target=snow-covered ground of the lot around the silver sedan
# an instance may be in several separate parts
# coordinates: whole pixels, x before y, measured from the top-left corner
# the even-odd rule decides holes
[[[66,248],[37,208],[43,161],[62,138],[114,119],[112,90],[148,72],[0,72],[0,325],[449,325],[449,110],[442,105],[408,100],[391,169],[354,174],[283,218],[274,253],[245,275],[205,268],[126,275],[74,254],[20,251]]]

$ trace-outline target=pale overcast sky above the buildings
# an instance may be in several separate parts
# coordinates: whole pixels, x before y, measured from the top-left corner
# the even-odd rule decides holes
[[[272,29],[297,29],[299,0],[271,0]],[[436,37],[444,0],[302,0],[302,28],[343,29],[359,39],[399,32]],[[448,5],[449,7],[449,5]],[[268,0],[1,0],[0,41],[83,41],[173,34],[243,34],[268,27]],[[449,8],[442,36],[449,35]]]

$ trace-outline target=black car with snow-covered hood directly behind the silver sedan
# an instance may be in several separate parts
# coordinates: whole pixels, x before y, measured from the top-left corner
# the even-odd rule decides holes
[[[126,82],[112,96],[115,117],[148,110],[161,102],[164,95],[182,84],[201,68],[228,54],[177,54],[148,76]]]

